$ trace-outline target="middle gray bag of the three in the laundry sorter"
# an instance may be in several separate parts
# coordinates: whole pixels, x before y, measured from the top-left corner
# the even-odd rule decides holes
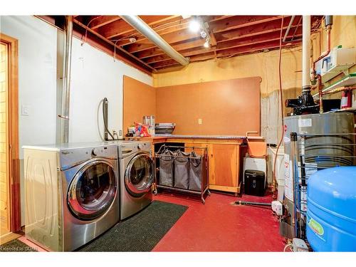
[[[190,153],[178,150],[176,156],[174,158],[174,187],[188,189]]]

